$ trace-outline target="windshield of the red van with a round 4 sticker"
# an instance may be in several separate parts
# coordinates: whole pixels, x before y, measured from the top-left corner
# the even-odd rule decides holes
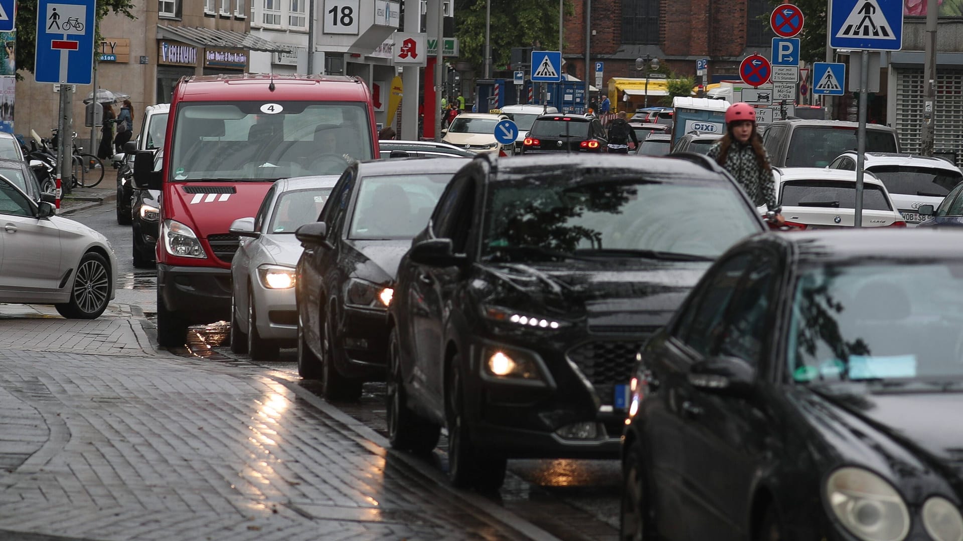
[[[361,102],[183,103],[169,180],[341,174],[374,154]]]

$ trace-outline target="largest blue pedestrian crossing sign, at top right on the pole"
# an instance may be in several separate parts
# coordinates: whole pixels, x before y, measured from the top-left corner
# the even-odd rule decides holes
[[[838,49],[902,48],[903,0],[830,0],[829,44]]]

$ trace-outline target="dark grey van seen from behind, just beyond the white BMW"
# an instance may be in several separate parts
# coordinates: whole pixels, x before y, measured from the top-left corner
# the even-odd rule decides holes
[[[763,144],[772,167],[826,167],[840,152],[856,149],[856,122],[791,118],[769,124]],[[898,152],[897,131],[866,125],[867,152]]]

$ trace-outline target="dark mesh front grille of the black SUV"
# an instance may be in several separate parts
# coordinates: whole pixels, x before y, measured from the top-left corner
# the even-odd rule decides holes
[[[615,385],[628,383],[632,378],[636,354],[643,342],[587,342],[569,349],[566,356],[586,376],[602,403],[611,405]]]

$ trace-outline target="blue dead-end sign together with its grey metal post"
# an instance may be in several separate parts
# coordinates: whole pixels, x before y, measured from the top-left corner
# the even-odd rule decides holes
[[[73,147],[70,85],[90,85],[93,78],[94,13],[94,0],[39,0],[37,5],[34,78],[38,83],[61,85],[57,132],[58,207]]]

